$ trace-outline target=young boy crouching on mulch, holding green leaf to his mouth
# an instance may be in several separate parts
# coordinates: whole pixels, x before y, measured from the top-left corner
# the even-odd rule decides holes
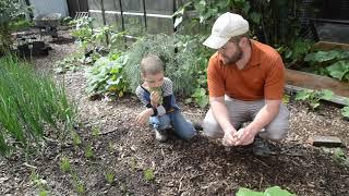
[[[167,140],[166,128],[172,126],[174,133],[183,138],[192,138],[196,130],[188,122],[176,103],[172,82],[164,77],[164,63],[157,56],[148,54],[141,61],[141,76],[143,84],[136,88],[136,95],[146,106],[137,117],[139,124],[151,123],[155,131],[155,138]]]

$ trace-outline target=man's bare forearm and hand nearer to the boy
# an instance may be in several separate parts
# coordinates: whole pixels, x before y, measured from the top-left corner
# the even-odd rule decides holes
[[[228,118],[228,110],[225,103],[225,97],[209,97],[210,109],[214,118],[219,123],[221,130],[225,132],[225,139],[227,145],[233,145],[233,134],[237,130],[232,126]]]

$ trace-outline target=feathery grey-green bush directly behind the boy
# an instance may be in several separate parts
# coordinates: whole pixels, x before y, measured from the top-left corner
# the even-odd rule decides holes
[[[157,54],[165,63],[165,75],[172,79],[177,96],[190,96],[205,75],[209,51],[202,47],[203,37],[183,35],[146,35],[125,53],[129,57],[123,73],[134,91],[141,84],[140,62],[147,53]]]

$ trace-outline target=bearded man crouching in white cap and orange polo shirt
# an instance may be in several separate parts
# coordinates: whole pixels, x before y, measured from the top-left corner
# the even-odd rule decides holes
[[[210,109],[203,123],[205,134],[222,138],[227,146],[249,145],[256,138],[255,155],[268,156],[262,138],[278,142],[289,130],[289,111],[281,101],[281,57],[272,47],[249,39],[248,21],[229,12],[217,19],[203,45],[218,50],[207,69]]]

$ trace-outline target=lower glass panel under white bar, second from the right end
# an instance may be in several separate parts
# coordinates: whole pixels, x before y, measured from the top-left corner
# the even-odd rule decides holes
[[[130,36],[141,36],[144,33],[144,17],[134,15],[123,15],[124,29]]]

